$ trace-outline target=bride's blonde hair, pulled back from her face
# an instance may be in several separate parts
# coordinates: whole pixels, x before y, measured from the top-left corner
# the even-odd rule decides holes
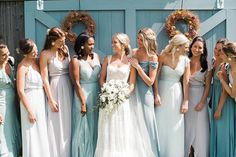
[[[113,35],[112,38],[117,38],[120,44],[124,46],[125,55],[129,55],[129,53],[131,52],[131,46],[128,35],[124,33],[117,33]]]

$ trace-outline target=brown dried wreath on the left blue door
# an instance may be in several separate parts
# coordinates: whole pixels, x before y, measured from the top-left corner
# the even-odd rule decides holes
[[[85,31],[90,35],[95,35],[96,23],[93,18],[85,12],[74,11],[67,15],[62,24],[62,30],[65,31],[66,38],[70,42],[74,43],[77,38],[77,34],[72,31],[73,25],[76,23],[83,23],[86,27]]]

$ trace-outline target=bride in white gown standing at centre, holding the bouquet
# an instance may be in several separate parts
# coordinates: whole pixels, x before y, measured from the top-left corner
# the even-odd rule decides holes
[[[129,37],[115,34],[112,49],[114,54],[104,59],[99,83],[102,87],[110,80],[128,82],[130,96],[111,116],[100,109],[95,157],[154,157],[143,114],[138,113],[140,100],[133,91],[136,71],[128,62]]]

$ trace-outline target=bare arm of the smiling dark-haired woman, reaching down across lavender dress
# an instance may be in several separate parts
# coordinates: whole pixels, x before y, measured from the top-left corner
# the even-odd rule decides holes
[[[204,92],[202,94],[200,102],[196,105],[195,110],[201,111],[206,104],[206,100],[211,88],[212,70],[208,71],[205,79]]]

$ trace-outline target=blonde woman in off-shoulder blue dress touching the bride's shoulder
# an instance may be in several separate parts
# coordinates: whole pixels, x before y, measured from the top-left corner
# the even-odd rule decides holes
[[[139,47],[133,51],[133,58],[129,59],[129,61],[138,72],[137,89],[141,96],[141,104],[143,105],[144,118],[152,150],[157,157],[160,150],[152,90],[158,66],[156,33],[150,28],[143,28],[138,33],[137,43]]]

